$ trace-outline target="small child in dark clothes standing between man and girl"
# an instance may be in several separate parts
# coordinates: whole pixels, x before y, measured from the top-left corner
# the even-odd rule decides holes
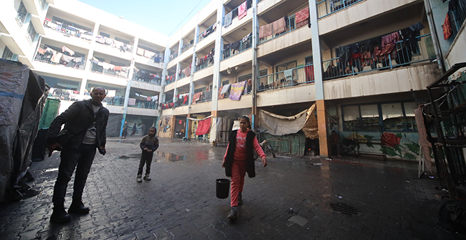
[[[143,167],[146,165],[146,175],[144,180],[150,181],[151,178],[149,174],[151,173],[151,163],[153,153],[158,149],[158,138],[156,137],[157,129],[155,127],[149,128],[149,135],[143,137],[143,140],[140,141],[139,147],[143,149],[143,153],[140,155],[138,176],[136,181],[143,182],[141,177],[143,176]]]

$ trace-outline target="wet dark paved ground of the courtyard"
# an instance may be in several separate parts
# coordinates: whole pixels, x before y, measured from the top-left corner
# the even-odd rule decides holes
[[[152,180],[138,183],[139,141],[108,139],[84,189],[90,213],[68,224],[49,222],[59,154],[34,162],[37,195],[0,206],[0,239],[437,239],[438,181],[417,178],[416,163],[268,158],[230,221],[215,194],[225,147],[160,139]]]

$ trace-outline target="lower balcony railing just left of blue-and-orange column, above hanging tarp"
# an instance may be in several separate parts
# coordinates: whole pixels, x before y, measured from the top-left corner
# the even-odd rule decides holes
[[[258,80],[258,91],[285,88],[310,82],[314,82],[313,64],[261,76]]]

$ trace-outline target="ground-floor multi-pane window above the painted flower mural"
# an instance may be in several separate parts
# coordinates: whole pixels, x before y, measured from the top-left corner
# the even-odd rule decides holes
[[[416,108],[415,102],[343,106],[343,129],[417,131],[414,115]]]

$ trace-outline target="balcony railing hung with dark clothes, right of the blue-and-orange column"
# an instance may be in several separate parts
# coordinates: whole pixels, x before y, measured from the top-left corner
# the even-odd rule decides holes
[[[416,37],[419,41],[410,45],[404,42],[397,42],[396,51],[385,56],[376,56],[372,58],[353,59],[347,63],[341,62],[340,58],[332,58],[322,62],[323,80],[331,80],[337,77],[357,75],[369,71],[378,71],[384,69],[394,69],[402,66],[409,66],[417,62],[428,62],[436,58],[434,47],[432,45],[432,36],[426,34]],[[409,40],[409,39],[408,39]]]

